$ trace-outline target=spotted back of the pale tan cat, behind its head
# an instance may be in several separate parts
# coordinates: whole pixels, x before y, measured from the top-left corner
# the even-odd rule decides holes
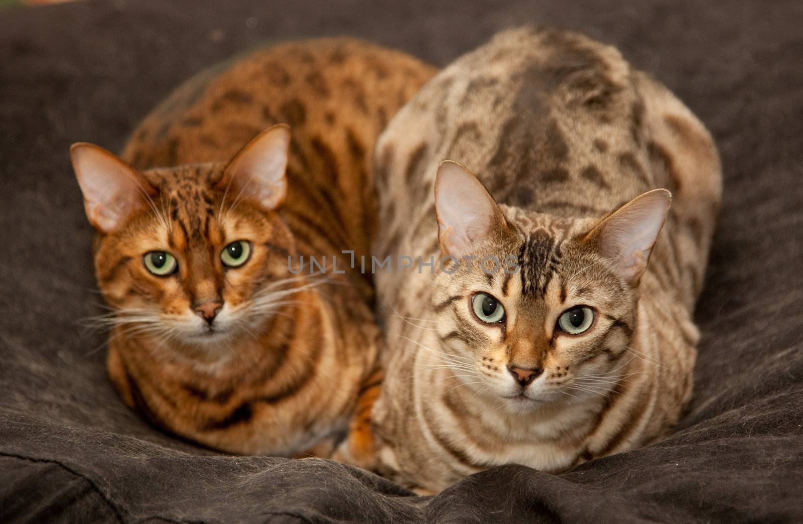
[[[570,31],[503,31],[438,73],[377,142],[383,227],[434,220],[438,162],[465,164],[498,203],[567,218],[601,217],[638,194],[674,194],[666,231],[695,236],[699,291],[721,193],[703,124],[615,48]],[[422,204],[423,203],[423,204]],[[387,210],[392,212],[387,212]],[[413,239],[420,232],[432,238]],[[434,229],[380,252],[437,248]],[[690,251],[691,252],[691,251]],[[662,256],[658,256],[658,259]]]

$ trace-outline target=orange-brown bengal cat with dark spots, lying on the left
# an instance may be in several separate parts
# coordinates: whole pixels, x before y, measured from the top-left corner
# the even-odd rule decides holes
[[[182,85],[121,158],[72,146],[128,406],[226,452],[326,454],[380,342],[369,276],[331,256],[368,252],[369,152],[433,73],[353,39],[283,43]]]

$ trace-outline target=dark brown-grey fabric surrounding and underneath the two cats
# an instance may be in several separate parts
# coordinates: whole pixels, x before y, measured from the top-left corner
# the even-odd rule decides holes
[[[438,497],[318,460],[230,457],[117,398],[67,149],[119,149],[202,68],[265,40],[354,35],[438,65],[495,31],[584,31],[711,129],[724,207],[675,435],[558,476],[506,466]],[[0,521],[803,520],[803,2],[89,1],[0,4]]]

